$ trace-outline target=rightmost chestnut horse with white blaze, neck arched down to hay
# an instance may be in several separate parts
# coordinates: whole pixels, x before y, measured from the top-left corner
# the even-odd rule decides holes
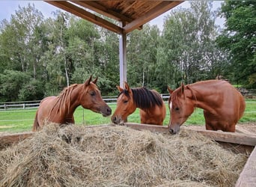
[[[179,132],[180,126],[196,107],[204,109],[207,130],[235,132],[237,121],[246,108],[245,99],[231,84],[222,80],[196,82],[172,91],[168,99],[170,109],[169,132]]]

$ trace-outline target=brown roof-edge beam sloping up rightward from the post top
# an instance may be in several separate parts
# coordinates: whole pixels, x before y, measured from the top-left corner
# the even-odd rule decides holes
[[[125,25],[124,33],[129,33],[130,31],[133,31],[135,28],[144,25],[146,22],[149,22],[151,19],[156,18],[157,16],[165,13],[173,7],[176,7],[182,2],[183,1],[162,1],[162,3],[158,4],[155,8],[144,14],[144,16],[141,16],[140,18],[135,19],[134,21]]]

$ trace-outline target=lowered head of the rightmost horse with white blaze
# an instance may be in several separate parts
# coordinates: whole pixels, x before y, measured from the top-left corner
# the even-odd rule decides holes
[[[176,134],[180,131],[180,126],[194,111],[194,103],[186,96],[186,87],[183,84],[174,91],[168,87],[168,91],[170,93],[168,99],[170,110],[168,130],[171,134]]]

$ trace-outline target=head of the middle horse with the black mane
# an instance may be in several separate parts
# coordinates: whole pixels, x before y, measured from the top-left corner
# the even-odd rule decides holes
[[[120,124],[124,123],[129,114],[135,111],[136,106],[132,99],[132,89],[129,88],[127,82],[124,82],[124,88],[120,86],[117,86],[117,88],[120,93],[118,95],[117,108],[111,119],[113,123]]]

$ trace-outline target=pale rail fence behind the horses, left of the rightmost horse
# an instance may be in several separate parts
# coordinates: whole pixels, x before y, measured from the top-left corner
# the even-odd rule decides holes
[[[169,94],[161,94],[163,100],[167,100]],[[103,96],[106,103],[116,103],[118,96]],[[40,100],[36,101],[21,101],[21,102],[0,102],[0,111],[19,110],[19,109],[34,109],[38,108]]]

